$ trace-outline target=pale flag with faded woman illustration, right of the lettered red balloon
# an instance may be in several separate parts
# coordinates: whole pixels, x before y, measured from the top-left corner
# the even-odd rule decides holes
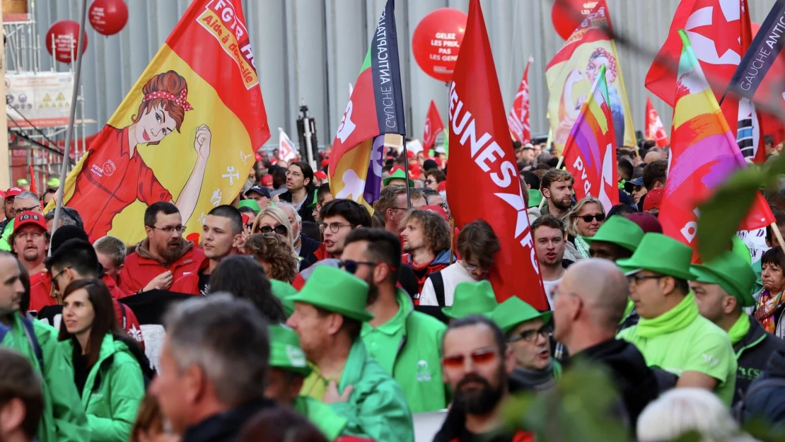
[[[550,90],[548,115],[557,152],[564,150],[564,144],[580,114],[583,104],[581,97],[589,93],[603,64],[607,69],[605,81],[608,82],[608,104],[613,116],[615,144],[629,147],[637,145],[608,5],[604,0],[593,3],[596,5],[591,13],[583,19],[546,67],[545,75]]]

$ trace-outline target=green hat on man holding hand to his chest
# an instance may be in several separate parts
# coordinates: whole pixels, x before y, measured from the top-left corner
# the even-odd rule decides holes
[[[367,300],[368,284],[365,281],[327,265],[316,266],[300,293],[289,298],[290,302],[305,302],[361,322],[374,319],[365,309]]]

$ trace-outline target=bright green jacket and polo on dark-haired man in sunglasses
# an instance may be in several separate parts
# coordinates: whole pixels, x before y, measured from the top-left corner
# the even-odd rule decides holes
[[[363,323],[363,342],[371,356],[375,357],[377,351],[395,355],[390,374],[403,389],[412,413],[444,410],[449,400],[442,379],[441,342],[447,326],[433,316],[415,312],[411,298],[403,290],[397,290],[396,298],[402,312],[389,322],[402,322],[403,332],[395,335],[397,337],[395,341],[385,340],[388,345],[384,348],[374,349],[371,348],[374,339],[369,337],[374,327]],[[383,325],[377,330],[384,328]],[[383,332],[376,331],[376,333]],[[390,371],[382,363],[382,358],[376,357],[376,359],[385,371]]]

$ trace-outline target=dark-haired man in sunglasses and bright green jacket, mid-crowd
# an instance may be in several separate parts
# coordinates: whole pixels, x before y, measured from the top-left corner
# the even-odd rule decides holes
[[[358,228],[346,236],[341,267],[368,284],[360,337],[371,355],[400,384],[412,413],[447,407],[440,365],[440,343],[446,327],[436,318],[415,312],[411,297],[396,287],[400,242],[382,228]]]

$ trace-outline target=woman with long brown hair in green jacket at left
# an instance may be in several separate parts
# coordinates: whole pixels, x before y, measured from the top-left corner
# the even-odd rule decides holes
[[[139,362],[144,353],[119,330],[111,295],[103,282],[80,279],[68,284],[59,340],[82,397],[90,440],[128,440],[144,396]]]

